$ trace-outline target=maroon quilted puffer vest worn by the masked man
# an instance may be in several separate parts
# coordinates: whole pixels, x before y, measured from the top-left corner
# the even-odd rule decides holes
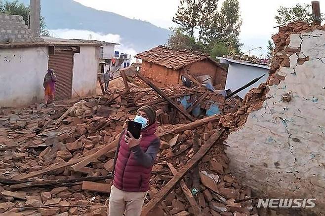
[[[141,149],[146,152],[150,144],[158,137],[155,135],[157,125],[153,124],[141,131]],[[133,152],[125,143],[125,132],[122,134],[118,147],[118,155],[115,163],[113,184],[118,189],[128,192],[145,192],[149,190],[149,180],[152,166],[141,166],[135,159]]]

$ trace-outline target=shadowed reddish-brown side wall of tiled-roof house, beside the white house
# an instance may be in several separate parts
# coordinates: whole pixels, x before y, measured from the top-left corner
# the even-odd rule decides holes
[[[213,85],[221,84],[223,88],[226,86],[227,72],[208,60],[188,65],[185,71],[197,76],[210,75],[213,77]]]

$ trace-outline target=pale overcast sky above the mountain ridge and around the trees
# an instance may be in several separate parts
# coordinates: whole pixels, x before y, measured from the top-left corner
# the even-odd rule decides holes
[[[128,18],[149,21],[162,28],[170,28],[171,21],[179,0],[76,0],[86,6],[99,10],[115,12]],[[239,0],[243,19],[241,42],[244,43],[243,51],[255,47],[263,47],[253,54],[267,52],[267,40],[277,32],[273,29],[277,24],[274,16],[277,9],[283,6],[293,6],[296,3],[310,3],[311,0]],[[321,1],[321,10],[325,12],[325,0]],[[322,2],[323,1],[323,2]],[[222,0],[219,0],[222,2]]]

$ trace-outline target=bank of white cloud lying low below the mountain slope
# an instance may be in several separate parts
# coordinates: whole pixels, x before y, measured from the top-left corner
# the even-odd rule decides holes
[[[100,40],[100,41],[106,41],[106,42],[113,42],[113,43],[120,43],[120,45],[117,45],[115,47],[115,50],[120,51],[120,53],[127,53],[128,55],[131,55],[132,61],[133,56],[137,54],[138,52],[132,47],[132,44],[130,45],[124,45],[122,43],[122,37],[119,35],[113,35],[113,34],[102,34],[102,33],[96,33],[88,30],[76,30],[76,29],[55,29],[50,30],[50,33],[53,34],[55,37],[59,38],[65,38],[65,39],[93,39],[93,40]]]

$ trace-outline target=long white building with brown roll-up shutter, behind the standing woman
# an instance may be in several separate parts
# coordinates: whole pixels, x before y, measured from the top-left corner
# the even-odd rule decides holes
[[[55,100],[95,94],[101,44],[42,39],[42,42],[0,42],[0,107],[41,102],[47,69],[53,69],[57,76]]]

